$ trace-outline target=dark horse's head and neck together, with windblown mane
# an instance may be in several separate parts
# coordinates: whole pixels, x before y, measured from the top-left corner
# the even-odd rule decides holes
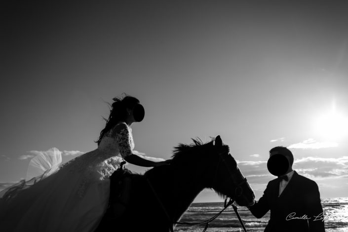
[[[194,139],[193,142],[175,147],[171,165],[178,171],[175,177],[180,182],[190,182],[192,188],[214,189],[219,195],[234,199],[238,205],[252,205],[254,192],[220,136],[215,138],[215,143],[203,144]]]

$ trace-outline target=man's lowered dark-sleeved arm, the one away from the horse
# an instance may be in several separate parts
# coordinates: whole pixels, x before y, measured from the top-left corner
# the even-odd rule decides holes
[[[309,220],[310,232],[325,232],[324,213],[320,202],[320,193],[315,182],[310,186],[309,192],[306,193],[306,210]]]

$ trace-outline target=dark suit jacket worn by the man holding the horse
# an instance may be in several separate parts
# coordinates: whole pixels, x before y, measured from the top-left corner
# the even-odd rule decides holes
[[[319,216],[323,209],[317,184],[295,171],[278,197],[279,182],[279,179],[271,180],[260,200],[248,207],[257,218],[271,210],[265,232],[325,232],[323,215]],[[305,219],[305,215],[310,219]],[[294,217],[302,219],[290,219]]]

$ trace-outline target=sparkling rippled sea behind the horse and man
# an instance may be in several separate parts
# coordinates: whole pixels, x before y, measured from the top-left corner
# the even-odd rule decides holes
[[[321,199],[326,232],[348,232],[348,197]],[[182,217],[185,222],[201,222],[213,217],[224,208],[224,202],[193,203]],[[246,207],[238,212],[248,232],[263,232],[270,219],[270,212],[263,218],[255,218]],[[204,225],[177,225],[175,232],[202,232]],[[244,232],[232,206],[210,223],[207,232]]]

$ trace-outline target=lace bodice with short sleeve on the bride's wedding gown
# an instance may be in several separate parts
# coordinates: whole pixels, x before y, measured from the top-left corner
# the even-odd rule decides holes
[[[123,158],[132,154],[134,141],[130,127],[122,122],[108,131],[96,150],[80,155],[62,165],[59,171],[68,169],[83,175],[78,194],[82,197],[91,181],[103,181],[118,168]]]

